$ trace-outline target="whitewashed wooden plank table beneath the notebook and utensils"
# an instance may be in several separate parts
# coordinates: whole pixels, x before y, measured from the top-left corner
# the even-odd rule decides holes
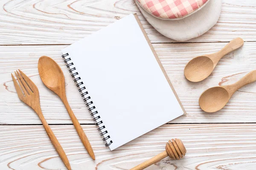
[[[65,169],[38,116],[16,94],[11,79],[16,69],[38,86],[44,116],[73,170],[128,170],[162,152],[172,138],[182,139],[185,158],[166,158],[147,170],[255,170],[256,82],[239,89],[216,113],[201,111],[198,97],[256,69],[256,0],[223,0],[218,23],[183,43],[155,31],[133,0],[1,0],[0,7],[0,170]],[[187,114],[110,151],[65,68],[61,49],[131,13],[139,15]],[[184,78],[190,59],[216,52],[236,37],[244,39],[244,46],[221,59],[208,79],[192,83]],[[61,100],[41,82],[37,63],[42,55],[63,69],[68,101],[96,161],[81,144]]]

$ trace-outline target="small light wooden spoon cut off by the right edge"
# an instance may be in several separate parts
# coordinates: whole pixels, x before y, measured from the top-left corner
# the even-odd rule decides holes
[[[232,85],[217,86],[204,91],[199,98],[203,111],[212,113],[221,110],[231,96],[241,87],[256,81],[256,70],[251,71]]]

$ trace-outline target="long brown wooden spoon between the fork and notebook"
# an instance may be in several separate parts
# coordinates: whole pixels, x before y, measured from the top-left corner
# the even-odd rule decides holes
[[[84,133],[83,128],[79,124],[76,116],[74,115],[73,111],[70,108],[70,105],[67,102],[66,91],[65,91],[65,79],[64,74],[60,68],[60,66],[50,57],[42,56],[39,58],[38,61],[38,72],[39,75],[44,83],[50,90],[52,90],[55,94],[57,94],[62,102],[64,103],[65,107],[67,108],[67,112],[70,115],[70,118],[76,127],[76,131],[84,144],[89,155],[95,160],[95,156],[93,153],[93,149],[90,145],[87,136]]]

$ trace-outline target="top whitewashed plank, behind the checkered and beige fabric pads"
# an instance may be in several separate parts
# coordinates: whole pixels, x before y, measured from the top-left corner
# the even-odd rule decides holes
[[[256,0],[222,1],[218,23],[188,42],[256,40]],[[0,6],[3,45],[71,44],[131,13],[139,15],[151,42],[175,42],[145,21],[134,0],[1,0]]]

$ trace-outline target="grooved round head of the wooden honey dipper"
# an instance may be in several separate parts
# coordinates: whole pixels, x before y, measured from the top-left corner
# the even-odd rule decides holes
[[[186,148],[180,139],[172,139],[166,143],[166,152],[172,160],[180,160],[186,154]]]

